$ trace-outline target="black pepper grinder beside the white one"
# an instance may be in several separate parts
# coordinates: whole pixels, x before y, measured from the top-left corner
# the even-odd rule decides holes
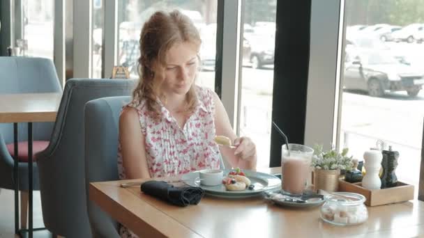
[[[381,189],[396,187],[398,185],[398,177],[395,174],[395,170],[398,167],[398,158],[399,152],[393,151],[391,145],[388,146],[388,150],[383,150]]]

